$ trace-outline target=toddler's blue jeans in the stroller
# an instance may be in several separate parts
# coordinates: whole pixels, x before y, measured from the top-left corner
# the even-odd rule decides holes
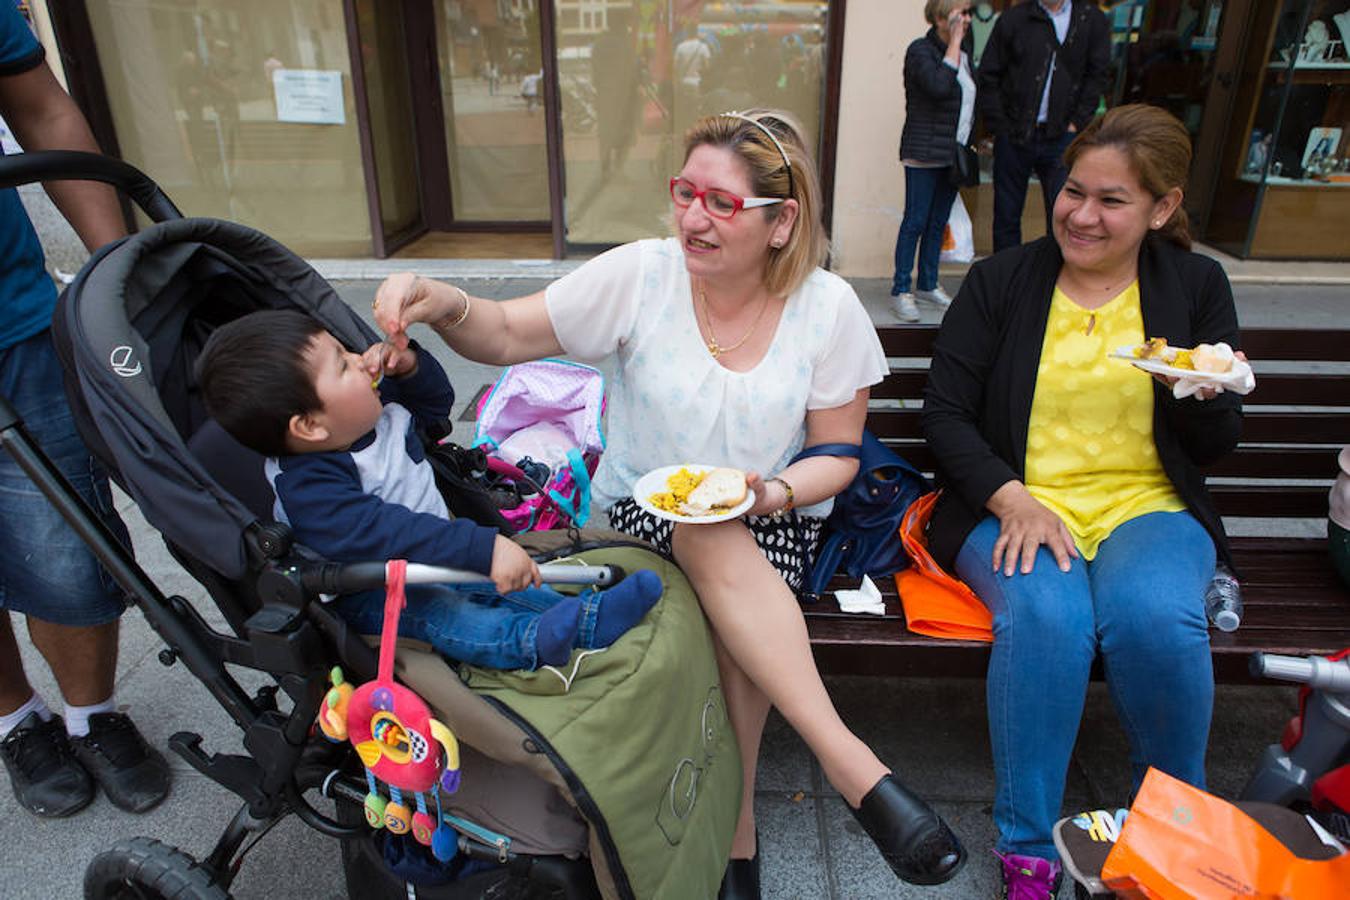
[[[409,584],[408,603],[398,618],[398,636],[425,641],[441,656],[490,669],[539,668],[535,636],[539,614],[563,599],[547,587],[498,594],[491,584],[450,587]],[[582,595],[578,645],[595,633],[598,603]],[[362,591],[333,602],[333,609],[362,634],[379,634],[385,626],[385,592]]]

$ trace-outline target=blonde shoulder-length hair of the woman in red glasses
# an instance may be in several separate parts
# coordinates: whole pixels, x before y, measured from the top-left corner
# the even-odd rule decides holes
[[[699,119],[684,132],[684,159],[697,147],[724,147],[745,163],[755,197],[796,201],[796,223],[780,248],[764,260],[764,287],[775,297],[796,290],[825,262],[829,237],[821,224],[821,182],[815,161],[792,116],[776,109],[747,109]],[[765,221],[782,215],[783,205],[764,206]],[[741,215],[749,215],[745,210]]]

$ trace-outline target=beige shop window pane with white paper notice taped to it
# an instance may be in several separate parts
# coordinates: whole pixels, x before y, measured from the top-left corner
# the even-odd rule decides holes
[[[184,212],[306,255],[370,252],[342,0],[86,4],[122,155]],[[273,73],[336,72],[340,124],[277,120]]]

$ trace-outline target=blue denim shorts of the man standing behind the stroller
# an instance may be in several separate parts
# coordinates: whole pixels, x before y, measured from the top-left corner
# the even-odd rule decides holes
[[[0,349],[0,393],[42,452],[130,546],[127,528],[112,506],[108,476],[76,432],[51,332]],[[57,625],[89,626],[112,622],[127,607],[117,583],[4,451],[0,548],[0,609]]]

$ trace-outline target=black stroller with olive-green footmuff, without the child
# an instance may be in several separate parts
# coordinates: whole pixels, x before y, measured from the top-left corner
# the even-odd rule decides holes
[[[274,521],[265,460],[209,418],[194,379],[211,335],[261,309],[298,310],[350,351],[377,343],[375,333],[265,235],[181,219],[153,182],[113,161],[28,157],[0,161],[0,185],[111,181],[158,220],[89,260],[62,294],[53,333],[81,436],[207,588],[224,625],[208,623],[186,598],[166,596],[43,464],[22,422],[0,420],[0,443],[132,595],[167,645],[161,661],[185,664],[243,733],[235,753],[208,753],[190,731],[169,741],[242,800],[215,847],[197,861],[146,838],[122,841],[90,864],[86,896],[225,897],[250,838],[290,814],[343,841],[352,896],[716,893],[741,788],[706,623],[670,560],[590,534],[536,538],[552,540],[537,548],[540,561],[566,563],[541,565],[544,580],[605,584],[613,569],[648,568],[666,587],[605,653],[572,654],[562,672],[501,671],[451,668],[424,645],[401,642],[396,676],[466,750],[463,783],[448,804],[458,816],[451,824],[462,828],[460,851],[494,868],[444,888],[427,884],[446,872],[390,869],[416,847],[390,850],[393,837],[370,831],[359,761],[315,729],[333,664],[352,681],[375,673],[360,629],[320,603],[320,594],[377,590],[385,561],[333,563],[296,545]],[[410,583],[418,582],[413,568]],[[423,582],[456,575],[416,568],[429,571]],[[262,687],[246,688],[236,669],[265,676]],[[336,815],[315,799],[320,791],[336,800]],[[517,887],[502,893],[506,882]]]

